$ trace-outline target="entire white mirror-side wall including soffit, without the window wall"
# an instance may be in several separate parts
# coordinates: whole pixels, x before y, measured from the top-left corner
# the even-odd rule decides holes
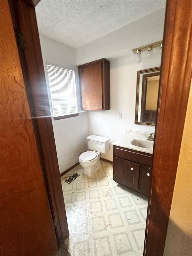
[[[160,66],[160,49],[153,50],[151,59],[147,52],[142,53],[139,65],[132,49],[162,40],[164,14],[161,9],[75,49],[77,65],[99,58],[110,60],[111,109],[88,113],[89,134],[111,138],[110,151],[102,154],[105,159],[113,160],[112,142],[124,135],[125,129],[154,133],[154,126],[134,124],[136,79],[138,70]],[[118,112],[122,112],[122,119]]]

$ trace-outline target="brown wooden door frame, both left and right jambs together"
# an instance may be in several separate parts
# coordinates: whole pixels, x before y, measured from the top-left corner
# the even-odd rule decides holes
[[[9,1],[58,244],[69,235],[35,6]],[[167,1],[144,256],[163,256],[192,75],[192,2]],[[20,48],[17,31],[24,34]],[[43,93],[42,89],[43,88]],[[48,111],[38,113],[39,100]]]

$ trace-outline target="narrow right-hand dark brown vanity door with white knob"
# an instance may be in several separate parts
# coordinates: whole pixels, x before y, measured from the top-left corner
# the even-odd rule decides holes
[[[149,196],[150,180],[151,180],[151,167],[141,165],[138,190],[140,193],[146,196]]]

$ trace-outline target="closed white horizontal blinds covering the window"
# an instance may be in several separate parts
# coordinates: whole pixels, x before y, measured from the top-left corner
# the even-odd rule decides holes
[[[54,116],[77,113],[75,72],[47,64]]]

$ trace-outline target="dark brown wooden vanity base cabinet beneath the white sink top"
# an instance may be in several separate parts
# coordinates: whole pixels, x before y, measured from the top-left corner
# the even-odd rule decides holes
[[[149,196],[152,154],[113,146],[113,179]]]

